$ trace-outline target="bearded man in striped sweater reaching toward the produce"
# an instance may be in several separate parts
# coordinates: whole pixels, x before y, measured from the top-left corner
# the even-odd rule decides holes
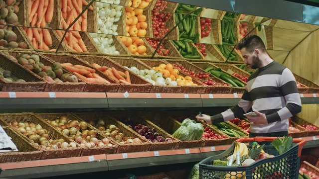
[[[204,123],[219,123],[241,118],[250,108],[256,116],[246,116],[250,121],[250,137],[288,136],[288,118],[301,111],[301,99],[292,72],[268,55],[265,44],[257,35],[241,40],[236,48],[245,64],[257,69],[249,79],[242,98],[236,106],[216,114],[197,115]]]

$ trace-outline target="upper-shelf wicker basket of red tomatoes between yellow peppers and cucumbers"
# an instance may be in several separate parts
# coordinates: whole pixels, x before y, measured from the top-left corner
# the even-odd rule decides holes
[[[186,70],[188,71],[193,71],[195,73],[207,73],[204,70],[196,67],[195,65],[188,63],[186,61],[180,61],[180,60],[165,60],[167,63],[171,63],[171,64],[181,64]],[[208,73],[207,73],[208,74]],[[210,78],[213,79],[217,84],[219,84],[219,86],[208,86],[206,88],[205,93],[230,93],[231,91],[231,87],[225,87],[223,86],[223,81],[219,80],[218,78],[215,78],[213,75],[209,74]],[[198,79],[199,80],[199,79]]]

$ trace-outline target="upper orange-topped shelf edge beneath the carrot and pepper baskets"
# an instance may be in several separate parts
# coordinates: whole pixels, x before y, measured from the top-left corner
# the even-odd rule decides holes
[[[0,109],[214,107],[235,105],[241,96],[237,93],[0,92]],[[319,93],[302,93],[301,100],[303,104],[319,103]]]

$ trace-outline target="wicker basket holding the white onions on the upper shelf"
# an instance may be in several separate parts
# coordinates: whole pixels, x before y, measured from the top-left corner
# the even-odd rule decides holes
[[[109,57],[111,60],[114,60],[115,62],[121,64],[122,66],[127,67],[136,67],[139,70],[144,69],[151,69],[149,66],[142,64],[139,60],[134,58],[119,58],[119,57]],[[180,93],[181,87],[168,87],[168,86],[159,86],[159,85],[153,85],[151,91],[152,93]]]

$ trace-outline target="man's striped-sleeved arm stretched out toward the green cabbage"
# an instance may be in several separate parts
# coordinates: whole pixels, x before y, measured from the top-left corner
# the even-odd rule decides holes
[[[238,104],[227,109],[226,111],[213,115],[210,117],[212,123],[219,123],[234,119],[235,117],[242,117],[252,106],[252,101],[249,92],[245,89],[243,96]]]

